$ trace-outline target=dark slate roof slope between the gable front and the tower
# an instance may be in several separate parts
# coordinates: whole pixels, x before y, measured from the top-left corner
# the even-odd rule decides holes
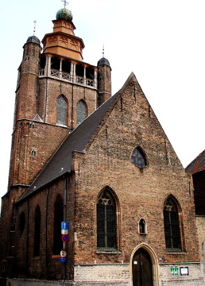
[[[66,172],[71,171],[72,165],[72,152],[73,151],[83,151],[87,142],[96,131],[97,127],[100,125],[100,122],[104,118],[105,114],[108,112],[109,107],[115,99],[121,94],[122,90],[126,87],[128,81],[130,81],[135,75],[131,73],[128,77],[126,83],[121,90],[111,96],[105,103],[100,105],[90,116],[85,118],[81,124],[70,133],[64,142],[59,146],[53,157],[48,161],[44,166],[42,171],[38,174],[38,177],[33,181],[31,186],[27,191],[20,197],[20,200],[23,200],[27,196],[33,194],[43,187],[47,183],[57,179]],[[136,78],[135,78],[136,79]],[[20,201],[18,200],[18,201]]]

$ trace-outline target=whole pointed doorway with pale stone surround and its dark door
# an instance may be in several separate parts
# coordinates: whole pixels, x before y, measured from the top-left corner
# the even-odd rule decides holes
[[[139,244],[131,255],[133,286],[159,286],[159,264],[148,244]]]

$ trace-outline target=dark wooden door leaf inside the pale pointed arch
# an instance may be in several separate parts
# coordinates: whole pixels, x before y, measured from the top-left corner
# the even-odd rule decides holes
[[[153,286],[152,261],[143,248],[139,248],[133,256],[133,286]]]

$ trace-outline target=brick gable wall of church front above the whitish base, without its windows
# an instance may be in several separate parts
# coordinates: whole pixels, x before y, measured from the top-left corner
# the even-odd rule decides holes
[[[146,168],[131,163],[136,146],[141,146],[147,155]],[[149,244],[162,261],[199,261],[189,180],[137,83],[129,83],[76,163],[76,263],[128,263],[141,242]],[[115,255],[96,252],[96,200],[107,185],[119,200],[120,253]],[[165,249],[163,204],[169,194],[175,196],[182,209],[180,253]],[[147,235],[138,233],[140,218],[146,220]]]

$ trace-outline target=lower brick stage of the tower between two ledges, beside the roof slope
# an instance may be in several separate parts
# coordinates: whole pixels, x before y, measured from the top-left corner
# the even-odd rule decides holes
[[[68,129],[43,122],[19,120],[13,134],[10,182],[30,184],[68,134]],[[36,156],[31,151],[36,151]]]

